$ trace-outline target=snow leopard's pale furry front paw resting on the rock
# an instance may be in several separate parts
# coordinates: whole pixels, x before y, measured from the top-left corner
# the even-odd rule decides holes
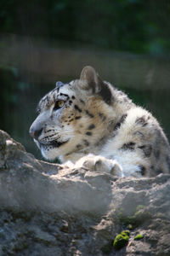
[[[76,163],[77,167],[84,167],[90,171],[109,172],[112,175],[122,177],[122,167],[116,160],[107,159],[101,155],[88,154]]]

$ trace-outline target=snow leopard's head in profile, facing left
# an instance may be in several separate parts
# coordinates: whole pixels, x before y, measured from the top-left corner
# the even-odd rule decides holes
[[[39,102],[30,128],[42,156],[54,160],[95,147],[105,136],[112,102],[111,85],[93,67],[84,67],[80,79],[57,82]]]

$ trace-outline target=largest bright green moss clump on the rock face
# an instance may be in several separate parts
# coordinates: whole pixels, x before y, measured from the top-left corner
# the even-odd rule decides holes
[[[121,249],[122,247],[125,247],[127,245],[127,242],[129,240],[130,231],[129,230],[123,230],[121,234],[117,235],[114,242],[113,247],[115,247],[116,250]]]

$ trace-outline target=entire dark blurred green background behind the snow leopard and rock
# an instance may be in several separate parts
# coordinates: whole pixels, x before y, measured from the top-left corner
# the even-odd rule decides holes
[[[0,0],[0,129],[41,159],[28,135],[37,102],[92,65],[170,137],[169,14],[165,0]]]

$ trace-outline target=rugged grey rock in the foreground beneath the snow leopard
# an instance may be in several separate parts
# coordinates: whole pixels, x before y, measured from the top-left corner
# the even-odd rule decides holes
[[[63,170],[0,131],[0,255],[170,255],[169,191],[170,175]]]

